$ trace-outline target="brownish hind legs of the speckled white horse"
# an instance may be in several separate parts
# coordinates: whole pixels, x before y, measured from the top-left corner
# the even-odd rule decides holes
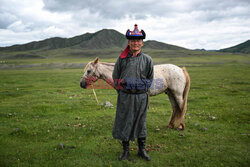
[[[171,90],[167,90],[167,94],[173,109],[172,116],[170,118],[168,128],[175,128],[177,127],[180,130],[185,129],[183,112],[181,110],[183,99],[182,96],[174,95]]]

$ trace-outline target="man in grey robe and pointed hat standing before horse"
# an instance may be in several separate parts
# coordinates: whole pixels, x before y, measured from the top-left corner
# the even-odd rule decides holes
[[[154,69],[150,56],[142,53],[145,32],[128,30],[128,46],[118,57],[113,71],[114,87],[118,92],[113,137],[123,144],[119,160],[129,157],[129,141],[138,139],[138,156],[149,161],[145,151],[147,136],[146,116],[148,90],[153,81]]]

